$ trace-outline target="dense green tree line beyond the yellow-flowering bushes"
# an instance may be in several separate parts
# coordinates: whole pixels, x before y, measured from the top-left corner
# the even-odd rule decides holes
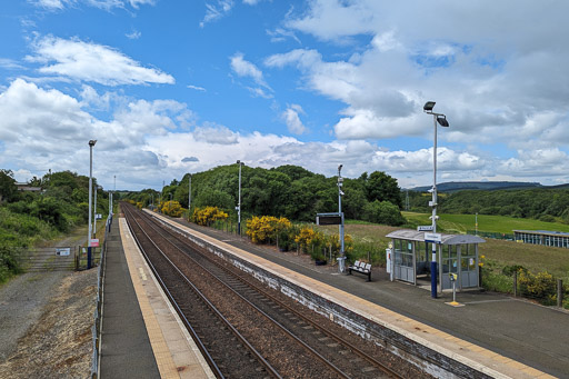
[[[316,213],[338,211],[338,178],[327,178],[298,166],[272,169],[242,167],[241,210],[246,216],[286,217],[296,221],[313,221]],[[191,178],[191,207],[218,207],[234,215],[239,191],[239,166],[221,166],[198,172]],[[131,193],[130,199],[144,206],[176,200],[188,208],[189,174],[164,187]],[[342,211],[346,218],[388,225],[402,225],[402,206],[397,179],[385,172],[362,173],[345,178]]]

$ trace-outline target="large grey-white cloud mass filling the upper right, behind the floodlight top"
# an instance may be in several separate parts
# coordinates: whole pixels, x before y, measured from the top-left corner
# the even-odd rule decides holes
[[[287,16],[288,33],[332,43],[365,34],[369,46],[355,44],[345,59],[297,49],[264,64],[296,67],[300,89],[343,102],[333,127],[340,139],[428,136],[421,107],[436,100],[451,124],[443,138],[455,142],[560,148],[569,142],[569,78],[558,69],[569,64],[559,48],[569,24],[559,7],[313,0]],[[432,28],[433,19],[445,22]]]

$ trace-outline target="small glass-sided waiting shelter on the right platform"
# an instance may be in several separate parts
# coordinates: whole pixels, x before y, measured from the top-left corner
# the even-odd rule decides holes
[[[425,232],[409,229],[396,230],[386,237],[392,239],[392,279],[413,285],[430,283],[431,242]],[[457,289],[478,287],[478,243],[482,238],[470,235],[443,235],[437,243],[438,291],[451,289],[449,273],[457,273]]]

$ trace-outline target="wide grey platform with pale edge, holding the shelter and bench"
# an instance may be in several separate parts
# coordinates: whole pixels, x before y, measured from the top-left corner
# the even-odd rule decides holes
[[[367,282],[234,235],[153,215],[489,377],[569,378],[567,311],[482,291],[459,292],[463,307],[451,307],[452,293],[432,299],[377,270]]]

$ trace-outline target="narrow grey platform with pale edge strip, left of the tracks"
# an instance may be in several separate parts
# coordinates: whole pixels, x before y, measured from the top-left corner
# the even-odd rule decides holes
[[[126,220],[107,240],[101,378],[214,378],[167,301]]]

